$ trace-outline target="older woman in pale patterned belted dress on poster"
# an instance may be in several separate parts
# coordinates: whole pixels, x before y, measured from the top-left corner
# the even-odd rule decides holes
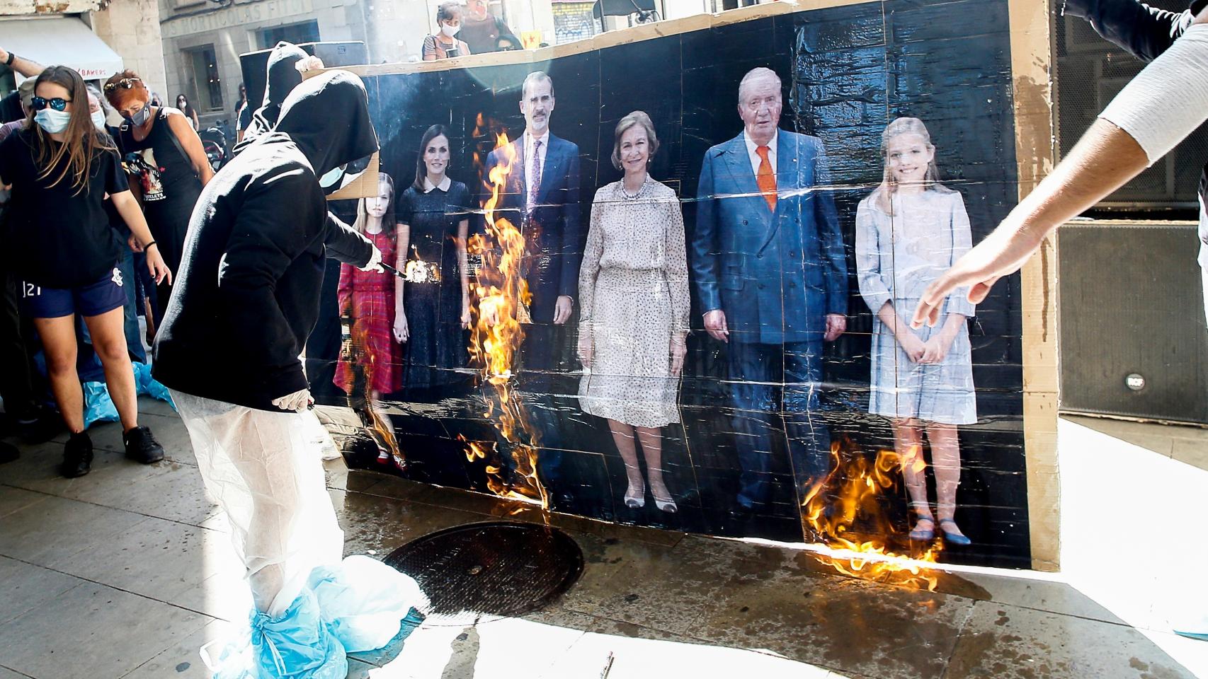
[[[616,125],[612,164],[625,178],[596,192],[579,273],[579,386],[585,412],[608,418],[625,461],[625,504],[646,504],[635,440],[646,458],[650,494],[674,513],[663,480],[661,427],[679,422],[676,396],[689,322],[684,216],[670,188],[646,169],[658,148],[650,116]]]

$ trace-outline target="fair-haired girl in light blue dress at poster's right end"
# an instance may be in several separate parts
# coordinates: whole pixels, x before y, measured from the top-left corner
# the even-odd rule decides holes
[[[966,545],[954,515],[960,484],[959,425],[977,421],[966,320],[974,305],[959,289],[943,322],[913,329],[910,317],[927,286],[969,251],[972,236],[960,193],[939,182],[935,147],[918,118],[898,118],[882,134],[884,180],[859,206],[855,256],[860,294],[875,316],[869,412],[889,417],[917,521],[913,540],[936,527]],[[936,516],[927,491],[923,434],[931,446]]]

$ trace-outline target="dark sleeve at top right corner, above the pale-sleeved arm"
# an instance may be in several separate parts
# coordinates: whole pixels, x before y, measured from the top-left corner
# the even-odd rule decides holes
[[[1204,6],[1192,2],[1194,10]],[[1064,13],[1091,22],[1094,31],[1133,57],[1152,62],[1187,30],[1192,11],[1168,12],[1139,0],[1065,0]]]

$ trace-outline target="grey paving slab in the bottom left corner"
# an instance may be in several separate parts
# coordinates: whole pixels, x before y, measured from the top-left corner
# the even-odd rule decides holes
[[[124,677],[208,620],[104,585],[82,585],[0,625],[0,665],[39,679]],[[47,639],[70,642],[47,648]]]

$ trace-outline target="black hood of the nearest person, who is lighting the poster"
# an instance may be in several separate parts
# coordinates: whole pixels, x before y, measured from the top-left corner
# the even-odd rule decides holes
[[[326,71],[295,87],[274,131],[294,140],[316,176],[378,150],[365,83],[348,71]]]

